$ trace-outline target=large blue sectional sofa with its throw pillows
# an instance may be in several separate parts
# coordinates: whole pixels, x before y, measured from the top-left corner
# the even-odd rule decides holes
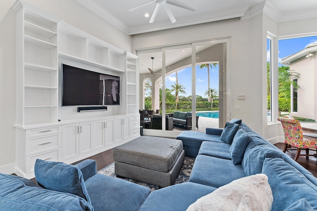
[[[218,195],[219,190],[259,175],[266,178],[261,184],[269,187],[265,195],[257,196],[260,201],[270,201],[266,210],[317,210],[317,178],[243,122],[232,120],[223,129],[208,128],[207,133],[184,131],[177,138],[186,146],[185,153],[187,150],[196,157],[189,182],[151,192],[119,178],[96,174],[96,163],[92,160],[76,166],[39,160],[35,173],[42,186],[18,176],[0,174],[0,208],[9,211],[191,211],[195,210],[192,206],[201,206],[205,197],[222,197]],[[63,173],[68,176],[62,176]],[[76,179],[68,181],[74,174]],[[65,184],[72,188],[65,189],[68,187]],[[260,182],[256,183],[259,185]],[[251,195],[248,203],[256,205],[253,202],[257,197]],[[214,210],[213,204],[209,206]]]

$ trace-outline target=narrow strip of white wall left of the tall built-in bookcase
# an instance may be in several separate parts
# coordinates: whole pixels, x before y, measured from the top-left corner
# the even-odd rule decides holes
[[[0,23],[0,172],[14,172],[15,162],[15,13]]]

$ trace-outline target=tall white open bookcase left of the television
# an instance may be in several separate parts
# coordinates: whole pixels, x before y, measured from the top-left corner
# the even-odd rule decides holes
[[[17,1],[16,13],[17,107],[16,124],[57,122],[57,23],[61,19]],[[23,5],[24,6],[24,5]]]

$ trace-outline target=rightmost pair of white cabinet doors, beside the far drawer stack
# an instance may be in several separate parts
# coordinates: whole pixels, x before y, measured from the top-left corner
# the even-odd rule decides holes
[[[116,118],[114,120],[114,142],[120,142],[130,137],[129,117]]]

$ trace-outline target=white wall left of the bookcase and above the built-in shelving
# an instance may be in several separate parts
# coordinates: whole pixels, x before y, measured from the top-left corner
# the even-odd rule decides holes
[[[132,51],[130,36],[75,0],[28,1],[89,34]],[[13,3],[12,0],[1,0],[0,5],[0,172],[3,173],[13,173],[15,165],[16,18],[10,9]]]

